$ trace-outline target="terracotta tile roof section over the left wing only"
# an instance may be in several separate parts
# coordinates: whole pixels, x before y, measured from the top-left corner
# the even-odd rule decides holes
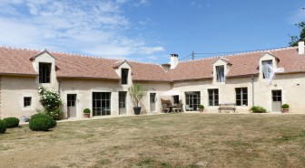
[[[0,48],[0,74],[37,75],[32,62],[41,51]],[[79,56],[75,54],[50,51],[56,59],[56,76],[58,78],[93,78],[120,79],[115,68],[123,60],[103,59],[98,57]],[[132,66],[134,80],[169,81],[170,78],[162,67],[156,64],[127,61]]]

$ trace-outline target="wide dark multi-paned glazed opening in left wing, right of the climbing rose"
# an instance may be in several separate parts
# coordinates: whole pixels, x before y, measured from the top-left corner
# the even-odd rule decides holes
[[[111,92],[93,92],[93,117],[111,114]]]

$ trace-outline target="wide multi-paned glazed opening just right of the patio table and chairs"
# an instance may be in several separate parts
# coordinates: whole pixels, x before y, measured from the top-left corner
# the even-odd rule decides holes
[[[200,91],[185,92],[186,111],[196,111],[201,102],[200,97]]]

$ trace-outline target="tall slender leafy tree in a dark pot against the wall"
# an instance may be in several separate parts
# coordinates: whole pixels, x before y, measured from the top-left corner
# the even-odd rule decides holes
[[[139,102],[144,98],[146,89],[141,84],[135,84],[128,91],[136,102],[136,107],[133,107],[134,115],[140,115],[141,107],[139,107]]]

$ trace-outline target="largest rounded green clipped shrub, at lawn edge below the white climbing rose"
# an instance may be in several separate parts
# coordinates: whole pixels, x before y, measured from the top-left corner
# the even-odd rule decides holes
[[[57,125],[57,122],[50,116],[40,113],[31,117],[29,127],[33,131],[47,131]]]

